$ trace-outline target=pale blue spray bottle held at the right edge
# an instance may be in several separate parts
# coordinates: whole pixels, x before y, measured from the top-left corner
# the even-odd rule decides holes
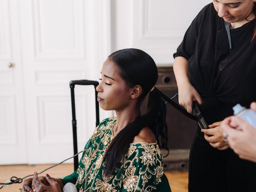
[[[236,104],[236,106],[233,107],[233,110],[234,115],[240,116],[256,128],[256,112],[254,110],[242,107],[240,104]]]

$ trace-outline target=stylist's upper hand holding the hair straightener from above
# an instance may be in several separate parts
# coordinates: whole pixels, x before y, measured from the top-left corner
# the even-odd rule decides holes
[[[193,101],[198,102],[198,104],[202,104],[202,98],[196,89],[190,84],[190,82],[186,82],[182,84],[182,86],[178,87],[179,92],[179,104],[184,106],[186,110],[192,114],[192,103]]]

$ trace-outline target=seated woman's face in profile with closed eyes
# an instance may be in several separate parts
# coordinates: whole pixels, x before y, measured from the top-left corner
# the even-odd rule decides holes
[[[119,74],[118,66],[108,58],[102,66],[100,84],[96,87],[103,110],[122,110],[131,101],[132,89]]]

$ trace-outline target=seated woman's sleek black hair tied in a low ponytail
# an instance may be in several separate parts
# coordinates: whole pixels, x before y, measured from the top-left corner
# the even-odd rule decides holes
[[[139,49],[118,50],[108,58],[120,69],[120,76],[127,85],[132,88],[136,85],[142,87],[142,94],[139,97],[141,103],[149,92],[148,107],[146,114],[138,116],[133,122],[123,128],[112,140],[104,161],[106,162],[106,174],[112,174],[114,168],[124,155],[128,152],[130,143],[140,133],[142,128],[149,126],[154,133],[160,148],[168,150],[166,106],[160,97],[159,90],[154,88],[158,79],[158,70],[152,57]],[[158,138],[161,137],[161,143]]]

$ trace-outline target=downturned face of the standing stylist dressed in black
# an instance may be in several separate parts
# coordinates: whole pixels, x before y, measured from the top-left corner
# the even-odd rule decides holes
[[[218,16],[230,23],[245,20],[252,12],[254,2],[256,0],[213,0]]]

